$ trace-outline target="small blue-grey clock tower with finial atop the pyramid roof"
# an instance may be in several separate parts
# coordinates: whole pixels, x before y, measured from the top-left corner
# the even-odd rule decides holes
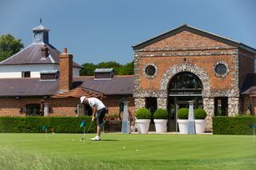
[[[49,29],[42,26],[40,19],[40,26],[35,27],[33,30],[33,43],[46,43],[49,44]]]

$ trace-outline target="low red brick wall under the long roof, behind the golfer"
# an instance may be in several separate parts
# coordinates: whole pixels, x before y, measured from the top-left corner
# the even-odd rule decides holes
[[[132,96],[124,96],[129,101],[129,109],[131,113],[134,113],[134,99]],[[109,114],[118,113],[118,101],[121,97],[109,96],[103,98],[103,103],[109,108]],[[40,104],[40,97],[21,97],[20,99],[13,98],[0,98],[0,116],[10,117],[26,117],[26,105],[28,104]],[[50,116],[62,116],[62,117],[75,117],[77,113],[74,109],[80,104],[79,98],[67,97],[67,98],[48,98],[44,99],[45,103],[49,103]],[[19,109],[23,112],[19,113]]]

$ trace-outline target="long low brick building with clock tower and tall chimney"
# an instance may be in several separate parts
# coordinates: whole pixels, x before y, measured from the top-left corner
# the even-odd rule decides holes
[[[61,53],[49,43],[45,26],[33,29],[33,43],[0,62],[0,116],[26,117],[90,114],[79,97],[98,97],[109,114],[118,113],[122,97],[134,111],[134,76],[114,76],[112,69],[97,69],[92,77],[79,77],[80,65],[67,49]],[[41,102],[42,101],[42,102]]]

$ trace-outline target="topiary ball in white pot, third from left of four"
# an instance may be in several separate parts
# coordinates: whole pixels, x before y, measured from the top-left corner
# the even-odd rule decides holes
[[[189,117],[189,109],[181,108],[178,109],[178,129],[181,134],[187,134],[187,124]]]

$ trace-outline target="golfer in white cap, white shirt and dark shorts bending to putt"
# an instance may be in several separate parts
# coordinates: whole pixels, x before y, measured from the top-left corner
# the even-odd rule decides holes
[[[106,106],[102,103],[102,101],[95,97],[80,97],[80,101],[81,104],[89,104],[93,109],[93,116],[91,117],[91,121],[95,121],[95,117],[97,118],[97,136],[90,138],[90,140],[101,140],[101,125],[106,114]]]

